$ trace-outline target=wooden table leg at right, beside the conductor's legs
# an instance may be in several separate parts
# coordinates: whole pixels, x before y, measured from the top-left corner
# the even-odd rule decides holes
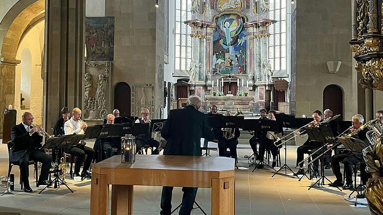
[[[211,215],[234,215],[234,177],[211,180]]]

